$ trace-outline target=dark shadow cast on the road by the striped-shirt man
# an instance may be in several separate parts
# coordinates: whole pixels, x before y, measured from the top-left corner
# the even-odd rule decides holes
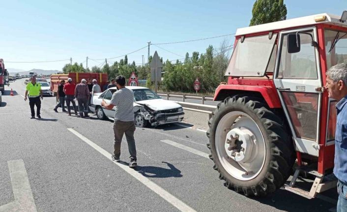
[[[129,165],[127,162],[121,161],[124,165]],[[169,166],[169,169],[156,166],[136,166],[135,170],[141,173],[146,178],[181,178],[181,171],[174,167],[173,164],[162,161]]]

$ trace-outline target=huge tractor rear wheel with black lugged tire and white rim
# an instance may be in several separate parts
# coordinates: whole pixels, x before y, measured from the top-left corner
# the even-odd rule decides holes
[[[206,132],[209,138],[207,147],[211,151],[209,157],[214,162],[213,169],[220,173],[219,178],[225,181],[228,188],[243,192],[246,196],[265,196],[279,189],[288,179],[295,161],[292,139],[286,131],[285,123],[257,100],[247,96],[226,98],[212,113]],[[232,153],[236,151],[236,154],[240,152],[239,149],[246,152],[239,147],[240,143],[239,149],[234,150],[237,148],[236,142],[240,142],[238,135],[231,137],[228,133],[229,130],[231,132],[238,129],[253,136],[248,140],[252,153],[247,156],[253,158],[248,163],[238,162],[236,157],[228,154],[230,150]],[[227,140],[227,137],[236,138],[233,147],[228,146],[233,142]],[[255,170],[249,171],[245,167]]]

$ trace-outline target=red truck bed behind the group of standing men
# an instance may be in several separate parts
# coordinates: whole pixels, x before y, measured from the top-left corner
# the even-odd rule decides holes
[[[68,74],[52,74],[51,75],[51,91],[54,96],[57,96],[58,85],[61,80],[65,80],[71,78],[72,82],[75,84],[79,84],[82,79],[88,80],[96,79],[100,88],[102,89],[108,80],[108,76],[106,73],[68,73]]]

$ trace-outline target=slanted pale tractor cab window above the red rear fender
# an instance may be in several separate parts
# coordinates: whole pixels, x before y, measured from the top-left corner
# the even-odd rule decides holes
[[[275,67],[277,34],[245,37],[237,40],[225,76],[263,77]]]

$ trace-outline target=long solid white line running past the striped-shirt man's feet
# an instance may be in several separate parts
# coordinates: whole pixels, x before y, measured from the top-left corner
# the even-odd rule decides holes
[[[102,149],[101,147],[99,147],[98,145],[96,145],[95,143],[93,143],[92,141],[87,139],[85,136],[81,135],[76,130],[74,130],[72,128],[68,128],[68,130],[70,132],[72,132],[73,134],[75,134],[77,137],[79,137],[81,140],[86,142],[89,146],[94,148],[96,151],[100,152],[106,158],[108,158],[109,160],[114,162],[117,166],[119,166],[121,169],[126,171],[128,174],[133,176],[135,179],[137,179],[138,181],[142,182],[145,186],[147,186],[149,189],[151,189],[152,191],[157,193],[160,197],[162,197],[168,203],[172,204],[179,211],[181,211],[181,212],[195,212],[194,209],[192,209],[191,207],[189,207],[188,205],[186,205],[185,203],[183,203],[182,201],[177,199],[174,195],[170,194],[169,192],[167,192],[166,190],[161,188],[159,185],[157,185],[154,182],[151,182],[150,180],[148,180],[146,177],[144,177],[139,172],[135,171],[134,169],[129,168],[126,165],[123,165],[121,163],[113,161],[112,158],[111,158],[111,156],[112,156],[111,153],[109,153],[108,151]]]

